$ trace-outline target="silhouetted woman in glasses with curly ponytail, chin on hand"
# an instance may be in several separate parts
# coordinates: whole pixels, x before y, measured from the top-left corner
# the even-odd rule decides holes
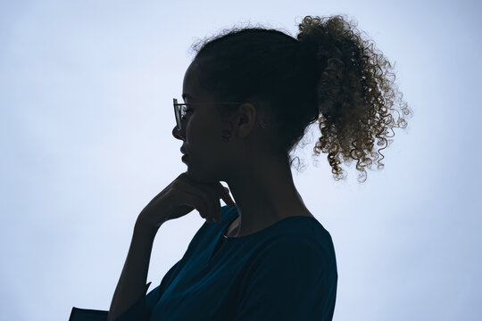
[[[187,172],[139,214],[109,311],[73,308],[71,320],[332,319],[334,246],[296,191],[289,153],[319,121],[314,152],[328,152],[336,179],[356,160],[364,181],[406,121],[391,114],[390,63],[350,23],[307,16],[299,30],[232,29],[195,45],[172,131]],[[145,295],[154,236],[192,210],[207,222]]]

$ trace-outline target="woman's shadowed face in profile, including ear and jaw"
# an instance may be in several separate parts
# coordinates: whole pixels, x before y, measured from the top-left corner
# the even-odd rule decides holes
[[[266,166],[286,158],[271,147],[276,137],[263,120],[266,117],[259,102],[220,100],[204,89],[200,70],[204,59],[195,59],[187,68],[183,81],[186,114],[181,130],[176,127],[172,131],[173,136],[184,141],[182,151],[187,153],[189,177],[204,182],[228,181],[228,174],[238,169],[249,172],[261,169],[262,161]],[[231,109],[230,114],[223,108]]]

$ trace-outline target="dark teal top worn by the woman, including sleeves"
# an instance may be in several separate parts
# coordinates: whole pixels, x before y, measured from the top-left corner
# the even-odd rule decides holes
[[[239,214],[226,205],[221,213],[219,224],[201,226],[161,284],[116,321],[333,318],[337,259],[316,218],[284,218],[251,235],[226,238]],[[72,308],[70,321],[87,320],[105,321],[107,311]]]

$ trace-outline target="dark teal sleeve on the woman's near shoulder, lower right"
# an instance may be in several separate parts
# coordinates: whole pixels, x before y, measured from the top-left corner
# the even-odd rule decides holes
[[[235,321],[332,320],[337,296],[334,253],[285,238],[248,268]]]

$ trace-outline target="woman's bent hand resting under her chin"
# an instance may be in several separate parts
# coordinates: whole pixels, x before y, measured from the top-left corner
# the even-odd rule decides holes
[[[229,207],[236,203],[229,195],[229,188],[218,183],[205,184],[187,177],[187,172],[174,179],[158,193],[139,214],[137,221],[158,228],[170,219],[181,218],[192,210],[199,211],[208,222],[220,222],[220,198]]]

